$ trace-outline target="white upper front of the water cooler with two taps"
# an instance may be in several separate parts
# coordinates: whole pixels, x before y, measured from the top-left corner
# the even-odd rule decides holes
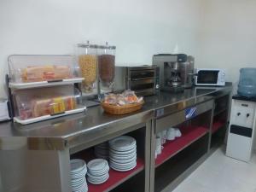
[[[232,104],[232,124],[253,127],[255,103],[233,100]]]

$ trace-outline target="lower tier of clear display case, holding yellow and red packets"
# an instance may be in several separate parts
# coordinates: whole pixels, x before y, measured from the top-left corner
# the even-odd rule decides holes
[[[85,110],[74,85],[15,90],[15,122],[22,125]]]

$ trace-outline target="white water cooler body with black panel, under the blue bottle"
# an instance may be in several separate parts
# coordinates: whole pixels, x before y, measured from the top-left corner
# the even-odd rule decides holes
[[[249,161],[253,152],[256,99],[233,96],[226,155]]]

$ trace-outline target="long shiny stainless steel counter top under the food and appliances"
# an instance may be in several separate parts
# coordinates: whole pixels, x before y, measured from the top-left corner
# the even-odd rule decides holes
[[[178,103],[186,103],[186,106],[195,105],[227,93],[232,90],[231,84],[224,87],[194,87],[183,93],[173,94],[160,92],[158,96],[146,96],[143,109],[124,115],[113,115],[104,113],[100,106],[89,108],[85,113],[77,113],[64,117],[49,119],[31,125],[19,125],[13,122],[0,124],[0,148],[1,138],[26,137],[35,140],[48,139],[51,142],[70,147],[77,137],[88,135],[87,139],[98,133],[119,131],[132,125],[143,124],[143,122],[154,118],[155,110],[159,108],[170,108],[167,112],[172,113],[172,106]],[[86,137],[83,137],[85,139]]]

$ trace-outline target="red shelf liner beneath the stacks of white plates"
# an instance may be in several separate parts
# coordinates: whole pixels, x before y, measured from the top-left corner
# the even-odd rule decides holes
[[[131,176],[134,172],[140,172],[144,168],[144,161],[137,158],[137,166],[128,172],[117,172],[110,168],[108,181],[102,184],[88,183],[88,192],[102,192],[108,191],[111,187],[119,184],[120,181],[124,181],[126,177]]]

